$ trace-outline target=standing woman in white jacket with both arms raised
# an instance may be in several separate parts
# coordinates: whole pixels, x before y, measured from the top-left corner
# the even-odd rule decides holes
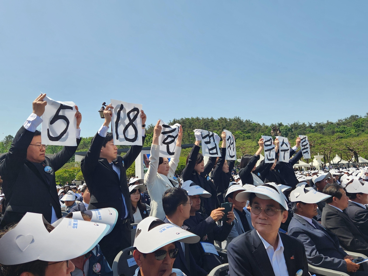
[[[180,125],[175,153],[170,158],[170,162],[167,158],[160,157],[159,136],[161,131],[162,126],[159,120],[153,130],[151,156],[149,157],[148,171],[144,176],[144,184],[146,184],[148,194],[151,197],[152,209],[149,215],[163,220],[165,212],[162,207],[162,195],[167,189],[178,187],[179,185],[174,174],[179,163],[183,129]]]

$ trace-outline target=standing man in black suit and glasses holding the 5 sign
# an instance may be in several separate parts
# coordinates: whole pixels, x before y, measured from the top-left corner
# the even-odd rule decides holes
[[[41,94],[32,103],[33,112],[18,130],[9,152],[0,157],[0,175],[6,197],[6,210],[0,227],[19,222],[26,212],[41,213],[49,223],[61,217],[59,197],[56,192],[55,171],[74,155],[78,146],[64,146],[52,158],[45,157],[46,145],[41,144],[41,132],[36,128],[42,123],[47,104]],[[77,117],[77,145],[81,141]]]

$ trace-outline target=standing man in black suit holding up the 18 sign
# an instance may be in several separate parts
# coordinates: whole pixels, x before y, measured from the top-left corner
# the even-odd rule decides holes
[[[131,246],[130,219],[133,217],[126,170],[141,153],[142,146],[131,146],[123,157],[117,155],[113,135],[107,132],[111,122],[111,105],[106,106],[103,114],[105,122],[93,137],[86,156],[81,161],[81,169],[86,181],[91,201],[88,209],[113,207],[118,211],[118,220],[114,229],[102,238],[99,245],[110,266],[115,256],[124,248]],[[141,110],[142,143],[146,114]]]

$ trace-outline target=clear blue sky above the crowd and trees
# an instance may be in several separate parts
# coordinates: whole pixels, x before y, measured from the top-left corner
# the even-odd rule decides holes
[[[0,139],[40,91],[93,136],[110,99],[158,118],[368,112],[367,1],[0,1]]]

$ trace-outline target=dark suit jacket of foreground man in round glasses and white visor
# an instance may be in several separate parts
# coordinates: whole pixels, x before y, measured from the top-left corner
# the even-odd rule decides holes
[[[289,276],[300,269],[308,275],[308,263],[303,243],[297,238],[280,233]],[[255,229],[234,238],[227,246],[231,276],[275,276],[265,246]]]

